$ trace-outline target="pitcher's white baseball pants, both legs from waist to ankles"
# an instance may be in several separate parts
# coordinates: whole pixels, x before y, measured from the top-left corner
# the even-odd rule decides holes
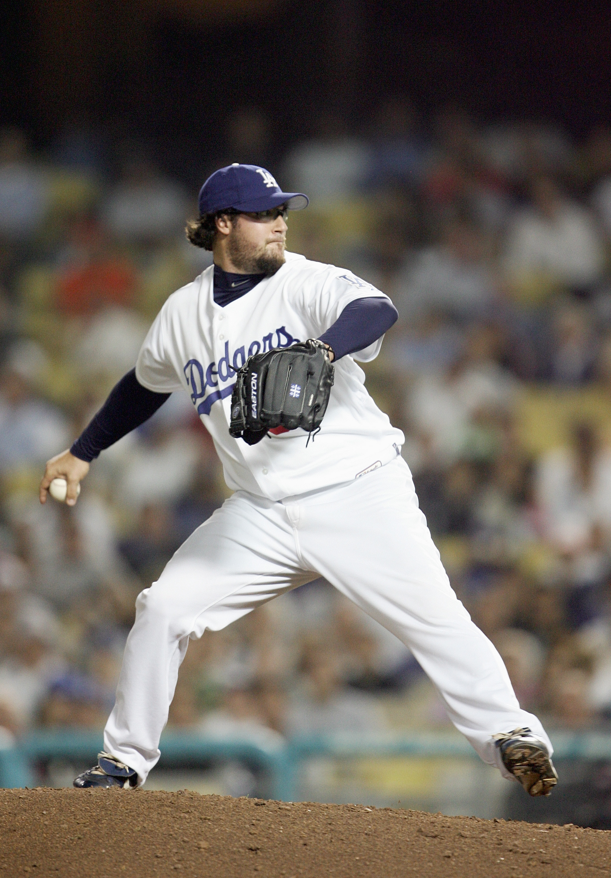
[[[237,492],[186,540],[136,601],[104,747],[143,783],[160,757],[189,638],[218,631],[323,576],[392,631],[439,690],[485,762],[492,735],[528,726],[499,653],[449,585],[401,458],[354,482],[280,502]]]

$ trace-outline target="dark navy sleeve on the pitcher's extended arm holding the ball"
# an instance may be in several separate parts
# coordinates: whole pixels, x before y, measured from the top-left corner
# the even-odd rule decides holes
[[[136,370],[127,372],[116,384],[104,406],[93,416],[70,451],[88,463],[119,439],[148,421],[170,396],[155,393],[139,384]]]

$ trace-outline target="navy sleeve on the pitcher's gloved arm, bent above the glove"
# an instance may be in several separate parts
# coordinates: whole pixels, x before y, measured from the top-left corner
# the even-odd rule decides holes
[[[333,326],[320,335],[320,341],[331,346],[335,362],[346,354],[368,348],[398,317],[397,309],[388,299],[355,299],[343,309]]]

